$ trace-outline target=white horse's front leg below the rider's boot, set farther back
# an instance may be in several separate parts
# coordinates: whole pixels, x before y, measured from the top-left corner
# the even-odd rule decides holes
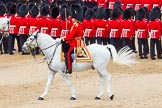
[[[70,100],[76,100],[75,89],[72,86],[71,81],[70,81],[68,75],[61,72],[61,76],[64,78],[64,80],[66,81],[67,85],[70,87],[70,90],[71,90]]]

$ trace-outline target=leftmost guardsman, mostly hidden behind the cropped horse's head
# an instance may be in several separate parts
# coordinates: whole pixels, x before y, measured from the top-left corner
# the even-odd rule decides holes
[[[4,4],[0,4],[0,18],[4,18],[6,13],[6,7]],[[0,31],[0,39],[2,39],[2,31]],[[2,48],[3,45],[3,48]],[[2,43],[0,43],[0,51],[1,54],[3,54],[3,50],[4,53],[7,54],[8,53],[8,37],[4,37],[2,40]]]

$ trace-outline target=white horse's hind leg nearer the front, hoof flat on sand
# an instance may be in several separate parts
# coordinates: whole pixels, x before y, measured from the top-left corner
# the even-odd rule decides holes
[[[95,97],[96,100],[99,100],[101,96],[104,94],[104,87],[105,87],[105,79],[104,76],[101,74],[100,71],[98,71],[98,74],[100,76],[100,93]]]

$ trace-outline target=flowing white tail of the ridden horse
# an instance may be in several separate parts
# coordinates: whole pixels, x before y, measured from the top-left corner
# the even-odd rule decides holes
[[[107,45],[107,48],[109,48],[112,53],[114,63],[127,66],[132,66],[138,63],[134,57],[135,53],[128,46],[120,49],[118,53],[113,45]]]

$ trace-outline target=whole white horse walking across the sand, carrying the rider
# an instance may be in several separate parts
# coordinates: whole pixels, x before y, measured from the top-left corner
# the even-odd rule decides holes
[[[42,50],[43,54],[47,58],[47,64],[49,67],[49,76],[48,81],[45,87],[44,92],[42,95],[38,97],[38,100],[43,100],[45,95],[49,90],[49,87],[52,83],[52,79],[54,78],[55,74],[58,72],[66,81],[68,86],[70,86],[71,90],[71,100],[76,99],[75,89],[73,88],[69,77],[67,74],[63,73],[65,69],[65,63],[60,60],[60,53],[61,53],[61,40],[60,39],[52,39],[51,36],[43,33],[35,32],[31,35],[27,41],[24,43],[22,49],[27,52],[29,47],[34,48],[39,46]],[[106,70],[107,65],[110,61],[110,57],[112,54],[113,62],[121,64],[121,65],[133,65],[136,64],[136,60],[132,57],[134,53],[128,48],[125,47],[121,49],[118,53],[114,46],[112,45],[99,45],[99,44],[92,44],[87,46],[93,61],[92,62],[77,62],[76,65],[73,63],[72,68],[75,71],[84,71],[87,69],[92,69],[94,67],[101,79],[100,85],[100,92],[95,97],[95,99],[100,99],[101,96],[104,94],[104,85],[105,81],[107,83],[107,93],[108,97],[113,100],[113,93],[111,91],[110,81],[112,75]],[[108,50],[110,49],[110,50]],[[111,51],[111,54],[110,54]]]

